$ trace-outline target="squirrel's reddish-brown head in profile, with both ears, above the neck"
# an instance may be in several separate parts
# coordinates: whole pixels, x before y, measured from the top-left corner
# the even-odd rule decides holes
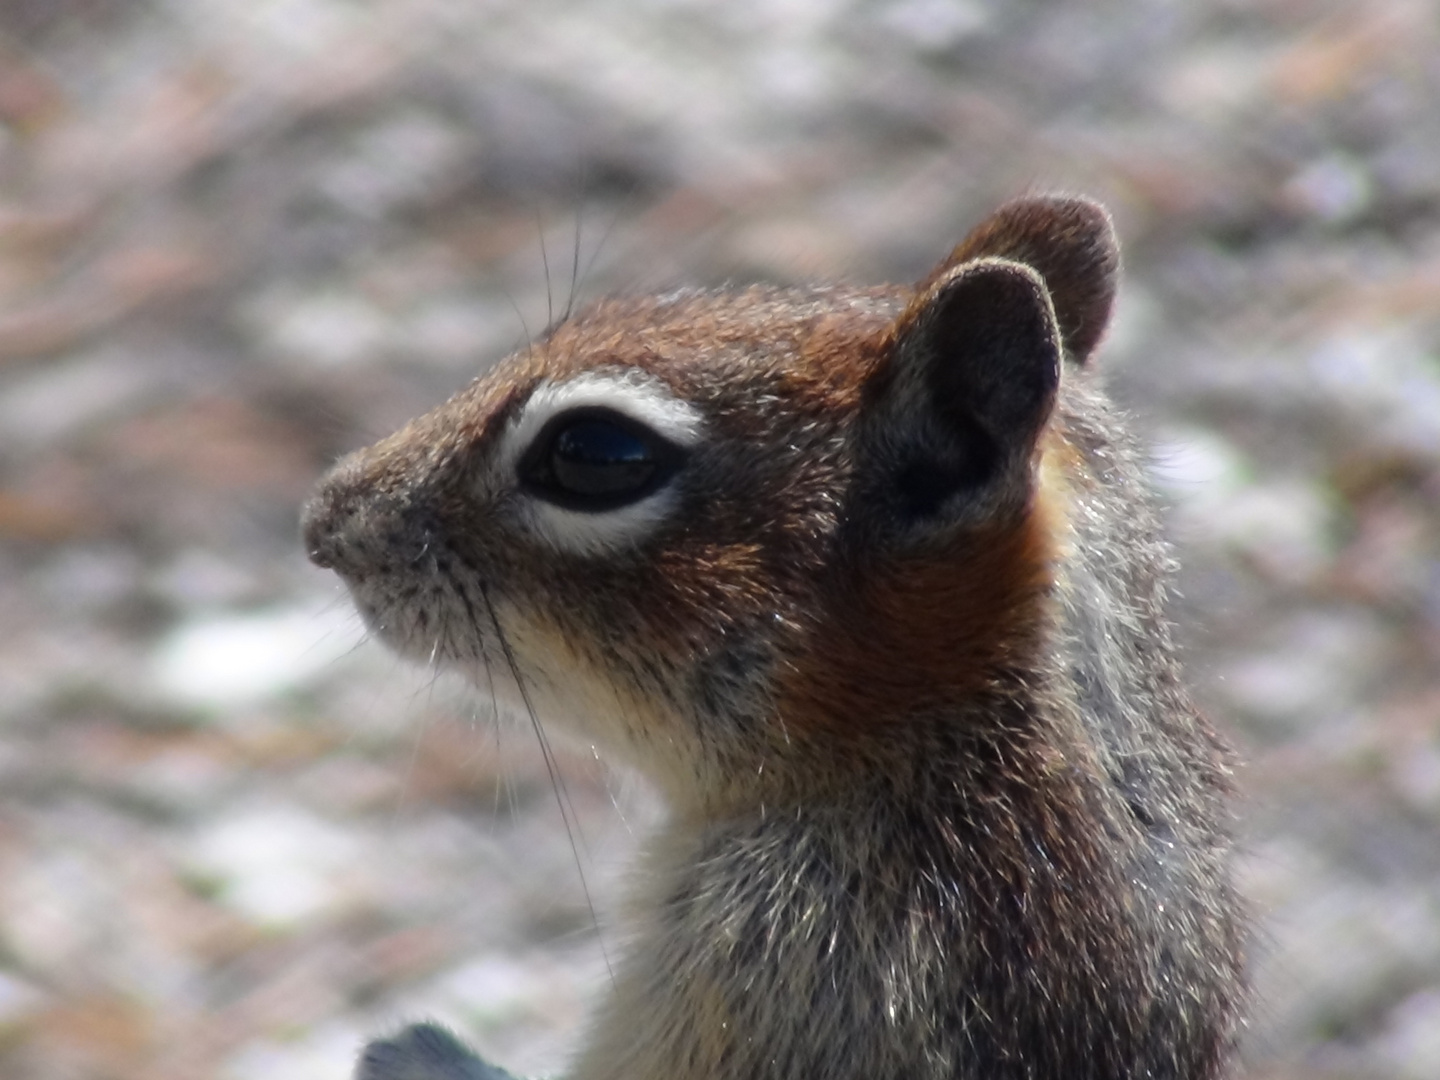
[[[1038,647],[1116,271],[1100,207],[1024,199],[914,288],[603,301],[343,459],[307,549],[681,808],[844,786]]]

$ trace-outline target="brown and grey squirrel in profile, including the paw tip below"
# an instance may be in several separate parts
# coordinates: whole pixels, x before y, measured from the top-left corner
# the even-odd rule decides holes
[[[400,654],[668,816],[575,1080],[1214,1080],[1230,750],[1092,354],[1110,217],[998,209],[914,287],[618,298],[304,511]],[[422,1024],[359,1080],[508,1076]]]

